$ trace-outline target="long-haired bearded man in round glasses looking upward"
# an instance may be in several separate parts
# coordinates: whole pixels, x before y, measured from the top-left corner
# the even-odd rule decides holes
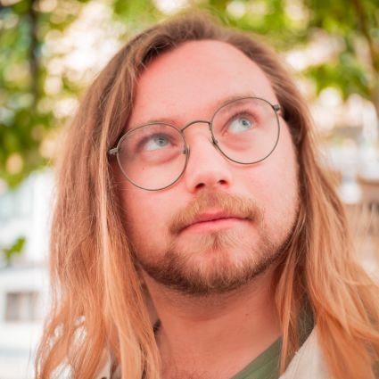
[[[267,47],[196,15],[146,30],[65,146],[38,378],[375,377],[377,286]]]

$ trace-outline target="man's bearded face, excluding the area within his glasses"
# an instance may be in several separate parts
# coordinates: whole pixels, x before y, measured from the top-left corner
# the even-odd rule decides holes
[[[157,120],[177,128],[210,119],[231,97],[277,103],[262,70],[231,45],[196,41],[156,58],[137,82],[128,128]],[[298,210],[297,163],[284,119],[264,161],[228,161],[204,123],[185,129],[190,156],[174,185],[149,192],[119,176],[128,237],[153,280],[204,295],[248,284],[275,262]]]

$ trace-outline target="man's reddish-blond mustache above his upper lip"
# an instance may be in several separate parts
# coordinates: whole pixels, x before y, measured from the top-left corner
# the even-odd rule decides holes
[[[202,213],[211,209],[225,212],[231,217],[254,222],[260,222],[263,219],[263,210],[250,198],[225,192],[203,193],[174,214],[169,222],[170,233],[179,234],[185,227],[194,224]]]

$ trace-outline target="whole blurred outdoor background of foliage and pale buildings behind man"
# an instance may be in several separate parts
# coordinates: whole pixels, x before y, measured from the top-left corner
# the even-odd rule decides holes
[[[190,6],[281,54],[376,275],[379,0],[0,0],[0,379],[33,377],[62,128],[128,37]],[[357,210],[367,222],[357,223]]]

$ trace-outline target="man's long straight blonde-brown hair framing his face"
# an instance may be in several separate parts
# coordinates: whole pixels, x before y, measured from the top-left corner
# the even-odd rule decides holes
[[[332,376],[375,377],[378,286],[354,259],[342,203],[316,159],[304,100],[276,54],[257,38],[192,14],[129,41],[95,79],[70,125],[51,235],[52,310],[37,352],[37,378],[49,378],[62,367],[70,367],[72,377],[93,378],[104,351],[110,352],[123,378],[161,377],[107,151],[127,125],[139,73],[157,55],[202,39],[234,45],[260,66],[296,147],[301,210],[276,273],[282,372],[299,348],[298,319],[307,302]]]

